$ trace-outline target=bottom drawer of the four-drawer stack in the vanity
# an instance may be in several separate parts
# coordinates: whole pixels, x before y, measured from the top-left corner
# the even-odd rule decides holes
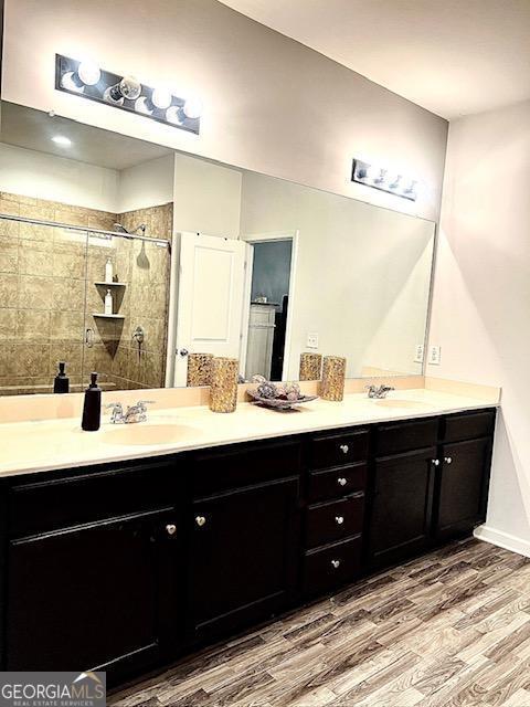
[[[331,591],[353,581],[361,569],[361,538],[350,538],[304,557],[303,592],[306,595]]]

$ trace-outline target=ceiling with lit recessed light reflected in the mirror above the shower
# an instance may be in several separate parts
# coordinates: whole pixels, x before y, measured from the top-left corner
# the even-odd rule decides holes
[[[1,104],[1,143],[118,171],[171,152],[159,145],[60,116],[50,117],[47,113],[6,101]],[[55,136],[68,138],[71,145],[56,145],[52,140]]]

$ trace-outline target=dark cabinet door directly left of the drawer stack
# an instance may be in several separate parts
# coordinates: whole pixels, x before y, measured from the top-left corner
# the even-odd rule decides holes
[[[197,500],[189,557],[191,640],[287,606],[297,580],[298,478]]]

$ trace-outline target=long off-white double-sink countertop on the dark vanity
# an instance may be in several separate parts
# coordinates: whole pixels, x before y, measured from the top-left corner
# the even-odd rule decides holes
[[[230,414],[203,407],[172,408],[150,412],[147,422],[131,425],[114,425],[104,416],[97,432],[83,432],[78,419],[4,423],[0,476],[492,407],[485,400],[423,388],[394,391],[385,400],[390,402],[356,393],[342,402],[316,400],[287,412],[240,403]]]

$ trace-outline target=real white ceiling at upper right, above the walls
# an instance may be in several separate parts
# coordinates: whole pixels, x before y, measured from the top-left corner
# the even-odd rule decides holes
[[[445,118],[530,97],[530,0],[222,0]]]

